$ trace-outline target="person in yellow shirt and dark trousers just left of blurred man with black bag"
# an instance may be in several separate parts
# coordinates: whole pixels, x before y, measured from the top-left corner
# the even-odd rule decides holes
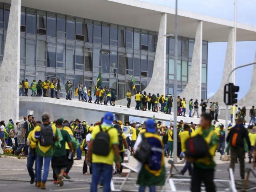
[[[186,151],[185,142],[188,138],[190,138],[191,132],[190,132],[190,126],[188,126],[187,124],[184,124],[183,129],[184,129],[184,131],[181,132],[180,139],[181,139],[181,151],[184,153]],[[189,175],[191,175],[192,174],[192,162],[191,161],[186,161],[185,166],[181,170],[181,175],[184,175],[187,170],[188,170]]]

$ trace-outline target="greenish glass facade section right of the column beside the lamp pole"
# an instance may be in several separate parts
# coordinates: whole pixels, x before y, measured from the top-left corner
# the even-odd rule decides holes
[[[174,38],[166,38],[166,94],[174,94]],[[194,39],[178,37],[177,94],[186,87],[190,76]],[[202,43],[202,99],[207,98],[208,42]],[[201,100],[201,98],[198,98]]]

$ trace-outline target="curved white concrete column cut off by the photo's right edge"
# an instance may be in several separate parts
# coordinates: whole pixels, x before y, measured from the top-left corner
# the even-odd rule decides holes
[[[256,53],[255,53],[254,61],[256,62]],[[238,101],[238,105],[241,107],[242,106],[252,106],[252,105],[256,106],[256,87],[255,87],[256,75],[255,74],[256,74],[256,64],[253,66],[253,69],[252,69],[251,86],[249,88],[249,91],[243,98],[241,98],[241,100]]]

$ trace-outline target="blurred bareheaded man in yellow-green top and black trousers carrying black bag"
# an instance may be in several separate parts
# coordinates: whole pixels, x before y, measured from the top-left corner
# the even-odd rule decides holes
[[[204,182],[207,192],[216,191],[213,179],[215,167],[214,155],[217,149],[218,138],[211,122],[212,118],[210,114],[202,114],[201,126],[191,134],[191,138],[186,140],[185,155],[188,161],[193,162],[191,180],[192,192],[201,191],[201,182]],[[192,145],[189,146],[193,146],[193,150],[190,150],[191,148],[187,146],[187,144],[191,143]],[[203,155],[200,154],[202,149],[205,149],[202,153]],[[193,156],[191,154],[193,154]]]

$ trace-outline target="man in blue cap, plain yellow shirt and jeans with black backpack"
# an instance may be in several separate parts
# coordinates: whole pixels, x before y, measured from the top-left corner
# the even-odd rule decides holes
[[[112,179],[114,157],[116,158],[117,169],[120,169],[118,132],[112,126],[113,120],[113,113],[105,113],[102,124],[94,127],[92,131],[86,156],[87,165],[92,166],[91,192],[97,191],[101,176],[103,177],[103,191],[111,190],[110,182]]]

